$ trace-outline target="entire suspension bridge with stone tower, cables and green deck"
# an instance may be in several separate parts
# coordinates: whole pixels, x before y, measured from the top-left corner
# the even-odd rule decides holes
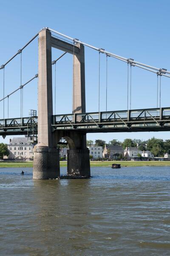
[[[53,33],[53,34],[51,34]],[[22,84],[22,52],[38,37],[38,74]],[[51,48],[64,53],[52,61]],[[85,47],[99,53],[98,111],[85,110]],[[55,65],[54,109],[56,111],[56,63],[66,53],[73,55],[73,109],[70,114],[53,114],[52,65]],[[106,55],[106,111],[100,111],[100,55]],[[20,55],[20,86],[5,95],[5,69],[17,55]],[[127,64],[127,109],[107,111],[108,99],[108,57]],[[138,67],[157,76],[157,108],[131,109],[132,67]],[[91,132],[132,132],[132,131],[170,131],[170,108],[161,107],[161,77],[170,78],[170,71],[125,58],[105,49],[86,44],[77,38],[63,35],[53,29],[43,28],[5,64],[3,71],[3,119],[0,119],[0,135],[27,135],[34,146],[33,178],[46,179],[59,176],[59,149],[63,140],[69,145],[68,174],[90,177],[89,150],[86,147],[86,134]],[[23,88],[38,78],[38,115],[30,111],[23,116]],[[20,90],[20,117],[6,118],[5,100]],[[130,93],[129,93],[130,91]],[[129,107],[130,106],[130,107]],[[9,114],[9,104],[7,113]],[[65,143],[65,142],[64,142]]]

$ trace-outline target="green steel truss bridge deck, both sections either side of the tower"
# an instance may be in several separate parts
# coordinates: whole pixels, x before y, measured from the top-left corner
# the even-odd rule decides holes
[[[0,120],[0,135],[36,134],[38,118]],[[52,116],[52,129],[79,132],[170,131],[170,108],[137,109]]]

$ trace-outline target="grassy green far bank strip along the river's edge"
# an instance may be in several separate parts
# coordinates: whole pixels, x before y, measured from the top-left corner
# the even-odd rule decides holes
[[[112,163],[120,163],[122,167],[130,166],[170,166],[170,161],[91,161],[91,167],[106,167],[112,166]],[[0,168],[24,168],[33,167],[33,162],[0,162]],[[67,161],[60,161],[60,167],[67,167]]]

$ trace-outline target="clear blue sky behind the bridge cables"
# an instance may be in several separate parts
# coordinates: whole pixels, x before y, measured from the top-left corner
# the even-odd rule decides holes
[[[0,3],[0,65],[41,28],[48,26],[73,38],[127,58],[170,70],[170,1],[8,0]],[[23,51],[23,83],[37,73],[37,39]],[[62,52],[53,49],[52,59]],[[85,48],[86,111],[98,111],[98,52]],[[53,70],[54,71],[54,70]],[[6,66],[5,95],[20,86],[20,55]],[[53,73],[54,75],[54,73]],[[105,111],[106,57],[101,56],[101,111]],[[132,109],[156,107],[156,75],[134,67]],[[108,110],[127,108],[127,64],[108,59]],[[0,70],[0,98],[3,71]],[[170,79],[162,78],[162,107],[170,106]],[[37,109],[37,80],[24,88],[24,116]],[[57,113],[72,112],[72,56],[57,63]],[[9,99],[9,117],[20,116],[20,93]],[[6,102],[7,117],[7,102]],[[3,103],[0,102],[0,118]],[[88,139],[150,137],[169,139],[169,132],[88,134]],[[0,142],[8,142],[9,137]]]

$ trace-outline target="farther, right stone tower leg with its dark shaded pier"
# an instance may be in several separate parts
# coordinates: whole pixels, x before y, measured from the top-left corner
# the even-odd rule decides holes
[[[85,52],[82,44],[77,44],[79,53],[73,58],[73,113],[85,113]],[[74,148],[67,151],[68,175],[82,175],[90,177],[89,149],[86,145],[86,134],[70,132],[74,141]]]

